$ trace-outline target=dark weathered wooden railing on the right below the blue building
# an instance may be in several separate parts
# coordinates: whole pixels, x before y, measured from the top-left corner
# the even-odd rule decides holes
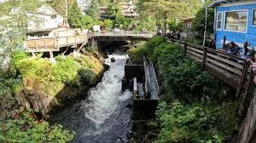
[[[236,89],[236,97],[241,90],[247,94],[253,82],[253,72],[249,62],[241,57],[226,54],[222,51],[209,49],[180,40],[172,40],[183,47],[183,53],[201,63],[201,67],[212,73],[224,83]]]

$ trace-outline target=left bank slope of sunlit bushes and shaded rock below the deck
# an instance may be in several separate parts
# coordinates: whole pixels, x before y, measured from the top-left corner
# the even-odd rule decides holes
[[[85,96],[104,71],[103,59],[97,52],[84,52],[79,57],[68,55],[48,59],[28,57],[17,51],[14,66],[20,72],[21,83],[15,88],[15,98],[20,105],[47,113],[54,106],[61,106]]]

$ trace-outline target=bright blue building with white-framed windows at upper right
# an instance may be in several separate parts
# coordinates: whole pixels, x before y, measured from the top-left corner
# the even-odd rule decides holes
[[[256,0],[215,0],[210,7],[215,9],[214,36],[217,49],[233,41],[243,48],[248,42],[256,48]]]

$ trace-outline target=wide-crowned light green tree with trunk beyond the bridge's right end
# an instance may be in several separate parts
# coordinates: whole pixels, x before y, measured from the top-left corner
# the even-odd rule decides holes
[[[137,3],[143,17],[154,16],[159,28],[167,28],[167,19],[180,19],[195,14],[201,6],[201,0],[139,0]]]

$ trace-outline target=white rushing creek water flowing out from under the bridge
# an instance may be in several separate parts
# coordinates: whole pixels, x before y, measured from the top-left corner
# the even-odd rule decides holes
[[[112,57],[115,62],[111,62]],[[90,89],[88,98],[53,117],[54,122],[78,133],[73,142],[127,142],[126,135],[131,131],[131,109],[125,106],[131,103],[131,92],[121,91],[126,60],[124,52],[109,55],[106,63],[110,68],[104,73],[102,82]]]

